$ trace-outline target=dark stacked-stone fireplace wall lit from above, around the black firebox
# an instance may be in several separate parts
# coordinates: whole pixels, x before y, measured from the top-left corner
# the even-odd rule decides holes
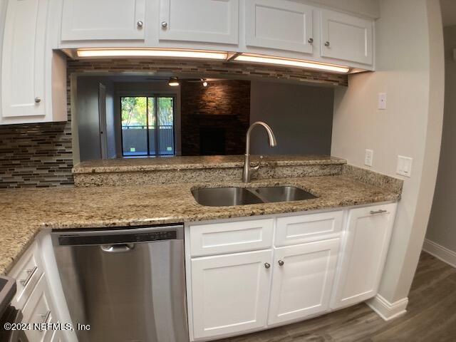
[[[182,155],[201,154],[201,130],[224,132],[224,153],[220,154],[244,153],[250,120],[250,81],[214,81],[207,87],[201,82],[181,82],[180,103]]]

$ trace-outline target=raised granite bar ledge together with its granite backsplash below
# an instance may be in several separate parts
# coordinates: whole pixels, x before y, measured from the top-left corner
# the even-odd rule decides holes
[[[345,164],[328,155],[270,155],[252,179],[341,175]],[[243,166],[243,155],[90,160],[76,165],[73,177],[77,187],[222,182],[241,179]]]

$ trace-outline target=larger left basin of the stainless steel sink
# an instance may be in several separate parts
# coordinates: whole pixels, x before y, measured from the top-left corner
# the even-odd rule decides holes
[[[199,204],[209,207],[263,203],[258,196],[243,187],[209,187],[192,190],[192,194]]]

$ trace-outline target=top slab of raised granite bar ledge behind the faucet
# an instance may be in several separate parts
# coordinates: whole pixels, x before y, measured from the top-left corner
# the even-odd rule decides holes
[[[252,160],[257,156],[252,155]],[[264,166],[346,164],[346,160],[329,155],[268,155]],[[130,172],[150,170],[220,169],[243,167],[244,155],[197,157],[153,157],[88,160],[73,167],[73,173]]]

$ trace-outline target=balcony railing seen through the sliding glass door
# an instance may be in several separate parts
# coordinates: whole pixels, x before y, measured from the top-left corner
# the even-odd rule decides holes
[[[174,155],[174,127],[158,126],[157,137],[155,127],[149,127],[148,155]],[[123,155],[147,155],[147,126],[122,126]]]

